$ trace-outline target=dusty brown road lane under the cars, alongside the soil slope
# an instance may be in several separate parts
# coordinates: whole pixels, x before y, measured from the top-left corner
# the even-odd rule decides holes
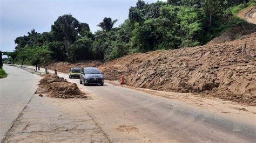
[[[19,71],[14,69],[14,72],[16,70]],[[149,92],[109,83],[103,87],[85,87],[79,84],[79,80],[69,79],[67,74],[58,75],[77,83],[81,90],[90,93],[89,100],[77,100],[75,105],[85,110],[106,134],[104,137],[113,142],[255,142],[256,140],[255,118],[250,118],[247,123],[242,119],[239,121],[239,116],[226,118]]]

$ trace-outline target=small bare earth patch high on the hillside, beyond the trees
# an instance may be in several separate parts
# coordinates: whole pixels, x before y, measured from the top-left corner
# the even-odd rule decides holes
[[[251,6],[248,9],[238,13],[238,17],[245,19],[248,23],[256,24],[256,6]]]

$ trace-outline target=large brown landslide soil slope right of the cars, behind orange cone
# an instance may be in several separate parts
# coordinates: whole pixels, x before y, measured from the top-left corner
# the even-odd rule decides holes
[[[247,57],[241,53],[246,44]],[[149,53],[136,53],[99,66],[106,80],[125,76],[127,85],[256,105],[256,33],[239,40]]]

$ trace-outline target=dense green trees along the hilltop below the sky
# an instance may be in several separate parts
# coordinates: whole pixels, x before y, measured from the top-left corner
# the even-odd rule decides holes
[[[104,18],[92,33],[87,23],[72,15],[58,17],[50,32],[15,39],[12,59],[38,65],[47,60],[109,61],[130,53],[176,49],[206,44],[234,24],[242,22],[233,14],[246,8],[248,0],[169,0],[147,4],[138,1],[129,9],[129,18],[119,27],[116,20]],[[23,62],[22,62],[23,63]]]

